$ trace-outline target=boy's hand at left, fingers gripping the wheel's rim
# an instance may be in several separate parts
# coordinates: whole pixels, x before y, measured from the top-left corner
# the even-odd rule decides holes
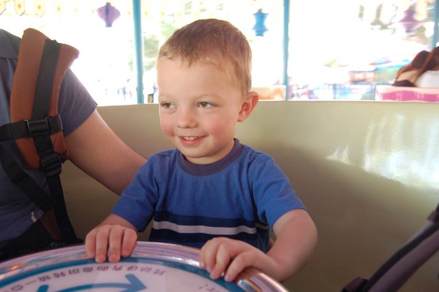
[[[130,256],[137,243],[137,230],[130,222],[110,214],[102,223],[88,232],[85,248],[89,258],[97,263],[116,263],[121,256]]]

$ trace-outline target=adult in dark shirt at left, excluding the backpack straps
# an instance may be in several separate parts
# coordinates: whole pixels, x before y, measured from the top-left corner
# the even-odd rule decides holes
[[[20,40],[0,29],[0,125],[10,123],[10,94]],[[68,70],[60,88],[58,112],[63,123],[69,159],[120,195],[145,158],[110,130],[96,108],[97,104],[86,88]],[[14,141],[4,141],[1,145],[23,167]],[[42,171],[26,172],[47,191]],[[43,211],[10,180],[0,166],[0,260],[49,247],[53,239],[40,221],[42,215]]]

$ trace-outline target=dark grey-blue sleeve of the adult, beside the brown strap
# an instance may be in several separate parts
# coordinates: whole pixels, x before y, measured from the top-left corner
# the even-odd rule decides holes
[[[68,69],[62,80],[58,98],[58,111],[62,119],[64,136],[75,131],[96,109],[97,104],[78,77]]]

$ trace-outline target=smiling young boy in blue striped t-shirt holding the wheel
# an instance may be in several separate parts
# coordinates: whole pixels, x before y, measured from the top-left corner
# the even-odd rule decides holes
[[[165,42],[156,63],[159,115],[177,149],[150,157],[86,236],[91,258],[130,256],[152,220],[150,241],[201,247],[200,265],[214,279],[254,267],[283,281],[304,265],[316,226],[274,160],[234,139],[259,99],[250,67],[248,41],[226,21],[195,21]]]

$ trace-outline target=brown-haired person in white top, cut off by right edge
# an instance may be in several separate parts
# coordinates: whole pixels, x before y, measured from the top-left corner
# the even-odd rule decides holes
[[[424,66],[418,71],[416,86],[420,88],[439,88],[439,47],[431,50]]]

